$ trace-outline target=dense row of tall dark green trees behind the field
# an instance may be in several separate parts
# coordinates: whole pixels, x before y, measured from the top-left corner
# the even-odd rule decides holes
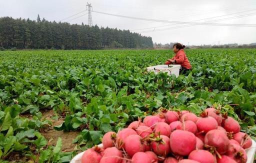
[[[67,22],[0,17],[1,48],[151,48],[152,38],[129,30]]]

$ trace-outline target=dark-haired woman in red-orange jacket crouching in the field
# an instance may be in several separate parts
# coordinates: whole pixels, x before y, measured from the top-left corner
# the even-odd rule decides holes
[[[185,45],[182,45],[181,43],[173,44],[173,52],[175,53],[175,56],[165,61],[165,64],[180,64],[181,69],[179,72],[181,74],[191,70],[192,68],[184,52],[184,47]]]

